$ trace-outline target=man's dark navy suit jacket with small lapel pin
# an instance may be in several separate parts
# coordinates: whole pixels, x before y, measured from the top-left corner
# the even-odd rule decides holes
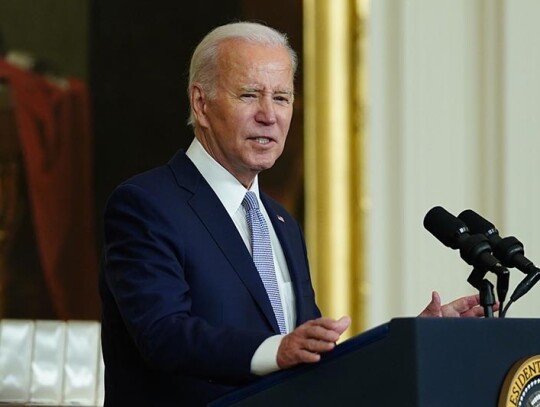
[[[261,201],[287,260],[297,325],[317,318],[301,229]],[[206,405],[254,380],[255,350],[279,333],[238,230],[183,151],[109,198],[100,294],[106,406]]]

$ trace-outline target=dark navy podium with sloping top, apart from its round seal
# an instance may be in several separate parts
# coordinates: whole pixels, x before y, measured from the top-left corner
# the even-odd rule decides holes
[[[208,406],[495,407],[511,367],[538,354],[540,319],[398,318]]]

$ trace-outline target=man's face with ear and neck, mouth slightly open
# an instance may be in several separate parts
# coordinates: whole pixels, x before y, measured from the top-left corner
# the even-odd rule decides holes
[[[219,47],[214,89],[215,97],[200,90],[193,100],[199,110],[198,138],[249,187],[283,152],[293,112],[289,53],[281,46],[225,41]]]

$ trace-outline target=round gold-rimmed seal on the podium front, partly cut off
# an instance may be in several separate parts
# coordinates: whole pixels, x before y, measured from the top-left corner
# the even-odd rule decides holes
[[[498,407],[540,407],[540,355],[512,366],[504,379]]]

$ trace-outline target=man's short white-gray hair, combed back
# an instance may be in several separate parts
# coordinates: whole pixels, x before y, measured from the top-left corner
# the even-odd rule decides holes
[[[214,28],[197,45],[191,57],[187,89],[190,103],[188,124],[191,126],[195,125],[191,108],[191,86],[194,82],[198,82],[209,97],[215,96],[214,81],[216,78],[218,47],[221,42],[229,39],[241,39],[255,44],[281,45],[285,47],[291,57],[293,75],[296,73],[298,57],[289,45],[285,34],[266,25],[251,22],[230,23]]]

